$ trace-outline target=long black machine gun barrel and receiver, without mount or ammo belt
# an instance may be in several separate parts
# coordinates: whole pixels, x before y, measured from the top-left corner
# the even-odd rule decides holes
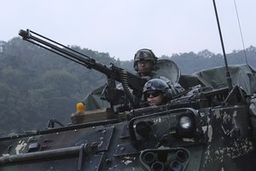
[[[112,78],[115,81],[124,83],[128,85],[131,89],[136,90],[137,92],[143,91],[143,86],[147,82],[141,77],[137,77],[131,72],[125,71],[122,68],[117,66],[105,66],[96,60],[90,58],[86,54],[79,53],[78,51],[68,48],[67,46],[57,43],[47,37],[39,35],[38,33],[30,30],[20,30],[19,35],[23,37],[24,40],[36,44],[42,48],[45,48],[55,54],[59,54],[68,60],[73,60],[74,62],[85,66],[89,69],[95,69],[105,74],[108,78]]]

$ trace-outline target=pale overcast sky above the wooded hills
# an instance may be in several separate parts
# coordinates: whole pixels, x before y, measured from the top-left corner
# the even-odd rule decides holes
[[[234,0],[216,0],[226,53],[243,49]],[[256,46],[256,0],[236,0],[245,48]],[[64,45],[131,60],[140,48],[171,56],[221,53],[212,0],[5,0],[0,40],[30,29]]]

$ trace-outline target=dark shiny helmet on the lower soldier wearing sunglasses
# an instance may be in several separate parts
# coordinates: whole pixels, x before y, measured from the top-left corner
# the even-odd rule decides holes
[[[145,83],[143,87],[143,100],[146,100],[145,94],[149,91],[160,91],[166,100],[172,99],[172,89],[160,78],[154,78]]]

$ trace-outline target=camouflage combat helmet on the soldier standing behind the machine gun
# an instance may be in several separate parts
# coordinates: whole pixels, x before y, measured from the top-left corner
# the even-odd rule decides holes
[[[134,55],[134,63],[133,67],[135,71],[138,71],[137,69],[137,62],[139,60],[149,60],[152,63],[152,70],[155,70],[155,65],[157,62],[157,57],[152,52],[152,50],[148,48],[142,48],[137,51],[137,53]]]

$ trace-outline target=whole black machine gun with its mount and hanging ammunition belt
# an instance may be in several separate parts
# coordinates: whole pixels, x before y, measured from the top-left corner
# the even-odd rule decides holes
[[[28,29],[26,31],[20,30],[19,35],[30,43],[34,43],[42,48],[54,52],[55,54],[59,54],[68,60],[72,60],[89,69],[95,69],[96,71],[100,71],[105,74],[108,77],[108,84],[103,89],[102,94],[105,95],[105,98],[108,100],[111,106],[127,103],[127,100],[131,107],[137,105],[134,97],[141,96],[143,86],[147,80],[137,77],[131,72],[125,71],[124,69],[114,66],[113,64],[110,67],[104,66],[96,60],[90,58],[88,55],[82,54],[73,48],[68,48],[61,43],[57,43],[34,31],[30,31]],[[115,81],[122,83],[124,90],[117,89],[115,86]],[[133,90],[132,94],[129,88]],[[120,98],[123,97],[124,94],[125,97],[127,97],[125,100]]]

